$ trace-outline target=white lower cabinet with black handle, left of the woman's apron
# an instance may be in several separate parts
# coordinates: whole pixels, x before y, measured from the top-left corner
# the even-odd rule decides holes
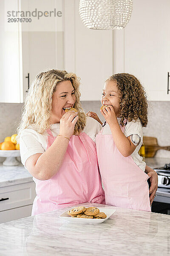
[[[35,197],[34,182],[0,188],[0,223],[30,216]]]

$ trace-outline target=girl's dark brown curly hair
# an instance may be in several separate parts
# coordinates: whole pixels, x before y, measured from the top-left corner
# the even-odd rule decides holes
[[[147,126],[147,97],[140,81],[128,73],[118,73],[110,76],[107,81],[116,81],[120,99],[120,124],[124,119],[129,122],[139,118],[142,127]]]

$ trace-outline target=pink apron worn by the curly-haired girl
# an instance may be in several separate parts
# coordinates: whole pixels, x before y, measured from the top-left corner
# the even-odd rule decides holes
[[[125,126],[120,125],[120,128],[124,132]],[[131,156],[122,156],[112,134],[102,134],[103,129],[96,135],[96,149],[105,203],[150,212],[149,176],[136,165]]]

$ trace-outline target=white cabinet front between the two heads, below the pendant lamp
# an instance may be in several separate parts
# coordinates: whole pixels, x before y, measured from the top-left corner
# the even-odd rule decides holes
[[[65,0],[65,70],[81,78],[81,100],[100,100],[113,74],[113,31],[88,29],[79,17],[79,0]]]

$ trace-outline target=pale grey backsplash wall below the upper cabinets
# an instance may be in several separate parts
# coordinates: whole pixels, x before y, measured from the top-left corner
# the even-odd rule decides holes
[[[5,137],[16,133],[20,122],[21,108],[23,104],[0,103],[0,142]],[[96,112],[104,121],[99,112],[99,101],[82,102],[82,107],[87,111]],[[170,102],[149,102],[149,114],[147,128],[143,128],[144,136],[156,137],[161,146],[170,145]],[[159,150],[156,157],[170,158],[170,151]],[[2,162],[2,159],[0,159]]]

